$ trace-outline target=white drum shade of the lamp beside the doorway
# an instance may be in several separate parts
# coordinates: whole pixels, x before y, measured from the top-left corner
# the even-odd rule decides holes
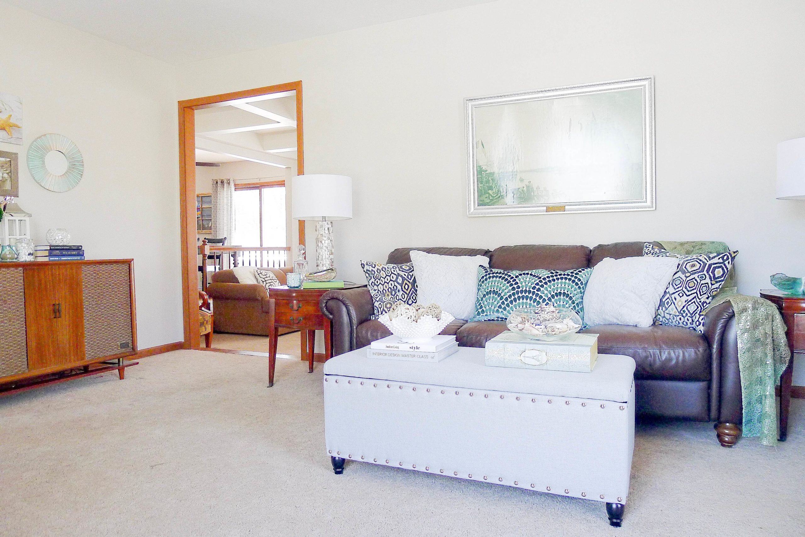
[[[352,178],[330,174],[296,176],[291,181],[294,220],[352,218]]]

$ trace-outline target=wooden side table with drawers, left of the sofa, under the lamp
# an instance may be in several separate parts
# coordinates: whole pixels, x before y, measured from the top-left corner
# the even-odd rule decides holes
[[[357,283],[345,283],[344,289],[366,287]],[[332,357],[332,321],[321,312],[319,299],[330,289],[295,289],[282,285],[271,287],[268,297],[274,300],[269,314],[271,342],[268,357],[268,387],[274,386],[274,369],[277,363],[277,338],[279,328],[294,328],[302,333],[302,357],[308,359],[308,373],[313,372],[313,344],[316,330],[324,330],[324,359]]]

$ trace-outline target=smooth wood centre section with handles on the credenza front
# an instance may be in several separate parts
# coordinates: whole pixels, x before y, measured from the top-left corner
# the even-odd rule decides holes
[[[25,269],[28,369],[85,359],[81,266],[59,264]]]

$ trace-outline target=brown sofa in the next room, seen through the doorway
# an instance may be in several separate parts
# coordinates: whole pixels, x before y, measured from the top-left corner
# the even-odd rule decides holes
[[[283,285],[285,272],[268,269]],[[274,300],[268,298],[266,287],[259,283],[239,283],[231,270],[217,271],[213,282],[207,286],[207,294],[213,301],[213,330],[216,333],[252,334],[270,336],[269,312],[274,308]],[[291,328],[280,328],[280,334],[295,332]]]

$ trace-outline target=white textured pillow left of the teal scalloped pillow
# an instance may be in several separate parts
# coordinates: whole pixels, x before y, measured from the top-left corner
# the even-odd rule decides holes
[[[475,313],[478,267],[489,266],[485,255],[439,255],[411,251],[418,304],[439,304],[456,319]]]

